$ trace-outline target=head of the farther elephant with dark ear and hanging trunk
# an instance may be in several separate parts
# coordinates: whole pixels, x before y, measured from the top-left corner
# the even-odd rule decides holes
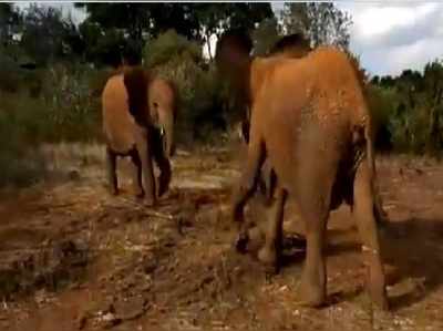
[[[135,121],[161,138],[163,154],[175,154],[174,126],[177,115],[175,85],[162,77],[150,75],[142,68],[125,71],[124,84],[128,95],[130,112]]]

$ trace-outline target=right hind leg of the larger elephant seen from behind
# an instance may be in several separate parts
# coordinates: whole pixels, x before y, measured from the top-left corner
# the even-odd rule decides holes
[[[382,309],[388,309],[385,278],[380,256],[379,235],[374,219],[372,174],[364,159],[357,169],[354,179],[354,216],[363,241],[362,254],[369,267],[368,287],[372,300]]]

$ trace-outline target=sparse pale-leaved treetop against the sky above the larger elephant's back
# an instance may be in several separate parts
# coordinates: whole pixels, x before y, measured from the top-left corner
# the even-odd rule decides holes
[[[332,44],[349,48],[351,17],[332,2],[285,3],[282,19],[286,33],[301,32],[309,37],[312,46]]]

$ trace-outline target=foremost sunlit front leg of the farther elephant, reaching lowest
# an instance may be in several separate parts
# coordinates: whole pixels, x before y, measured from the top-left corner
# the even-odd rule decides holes
[[[155,206],[157,203],[155,190],[154,167],[152,151],[147,142],[137,143],[138,157],[142,164],[143,184],[145,189],[145,203],[147,206]]]

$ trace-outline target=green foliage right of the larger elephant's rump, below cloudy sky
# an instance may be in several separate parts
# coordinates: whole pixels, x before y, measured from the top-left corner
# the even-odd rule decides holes
[[[372,79],[395,151],[440,154],[443,149],[443,65],[426,64],[423,74],[405,70],[398,77]],[[373,92],[372,91],[372,92]],[[380,99],[381,104],[380,104]]]

